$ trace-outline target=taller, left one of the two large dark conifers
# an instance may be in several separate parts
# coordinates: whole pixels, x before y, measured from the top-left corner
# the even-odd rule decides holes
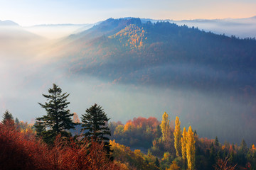
[[[62,89],[58,87],[56,84],[53,84],[53,89],[48,89],[49,95],[43,94],[45,98],[47,98],[48,102],[44,104],[38,103],[42,108],[46,109],[46,115],[43,115],[41,118],[36,118],[36,122],[39,126],[37,130],[39,134],[43,135],[43,139],[45,142],[53,142],[56,135],[61,135],[62,137],[70,137],[70,130],[74,127],[74,123],[72,121],[73,114],[70,113],[68,109],[67,98],[69,94],[62,93]],[[46,132],[41,133],[40,130],[48,129]]]

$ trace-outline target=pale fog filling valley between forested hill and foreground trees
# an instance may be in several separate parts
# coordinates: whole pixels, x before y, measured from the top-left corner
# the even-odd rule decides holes
[[[17,36],[10,38],[14,32]],[[161,120],[166,112],[171,120],[179,116],[182,127],[192,125],[200,137],[218,136],[220,142],[238,143],[244,138],[249,144],[256,140],[250,132],[245,133],[256,130],[255,97],[250,92],[244,96],[179,86],[119,84],[87,74],[70,74],[57,64],[61,57],[55,53],[60,52],[58,43],[26,30],[1,28],[0,113],[8,109],[14,118],[34,123],[35,118],[46,114],[38,102],[46,101],[42,94],[48,94],[55,83],[70,94],[70,111],[79,116],[94,103],[105,109],[110,121],[122,123],[139,116]]]

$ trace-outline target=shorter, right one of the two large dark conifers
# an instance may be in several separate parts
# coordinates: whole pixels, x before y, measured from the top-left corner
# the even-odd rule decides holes
[[[95,142],[103,142],[104,148],[107,152],[107,156],[110,156],[110,139],[108,136],[111,135],[110,128],[107,127],[106,113],[103,111],[101,106],[94,106],[87,108],[86,113],[82,115],[82,130],[85,131],[85,138],[87,140],[93,140]]]

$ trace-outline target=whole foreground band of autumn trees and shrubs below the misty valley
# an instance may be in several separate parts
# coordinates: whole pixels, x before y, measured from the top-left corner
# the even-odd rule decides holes
[[[0,169],[255,169],[255,145],[224,145],[199,138],[191,126],[181,130],[164,113],[134,118],[125,125],[111,122],[97,104],[74,123],[69,94],[56,84],[39,105],[46,115],[31,126],[6,110],[0,123]],[[70,130],[81,125],[80,135]],[[111,140],[110,140],[111,137]],[[127,147],[127,146],[129,147]],[[138,149],[142,148],[144,149]],[[147,153],[146,153],[147,152]],[[40,157],[41,156],[41,157]],[[45,164],[43,164],[45,162]],[[64,164],[68,164],[64,166]]]

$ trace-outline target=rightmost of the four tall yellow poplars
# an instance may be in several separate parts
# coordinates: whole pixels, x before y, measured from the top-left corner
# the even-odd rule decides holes
[[[195,168],[196,162],[196,147],[195,147],[195,137],[191,126],[188,128],[188,133],[186,137],[186,155],[188,160],[188,169],[192,170]]]

